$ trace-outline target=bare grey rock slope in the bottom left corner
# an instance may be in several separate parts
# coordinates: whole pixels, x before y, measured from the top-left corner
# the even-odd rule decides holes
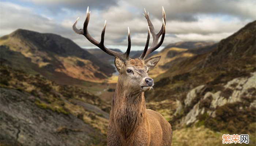
[[[39,108],[35,97],[1,88],[1,145],[78,146],[98,145],[105,136],[69,114]]]

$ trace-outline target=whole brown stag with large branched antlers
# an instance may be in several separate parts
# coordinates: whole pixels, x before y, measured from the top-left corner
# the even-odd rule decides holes
[[[148,76],[149,69],[157,65],[161,56],[145,59],[150,53],[158,49],[165,38],[166,16],[162,7],[163,24],[161,30],[155,33],[149,13],[144,9],[148,23],[146,45],[139,58],[129,58],[131,37],[128,27],[128,47],[125,53],[110,50],[104,45],[106,21],[101,32],[101,41],[96,41],[87,30],[89,24],[89,7],[82,29],[76,28],[76,19],[73,30],[84,35],[95,46],[105,53],[115,57],[114,64],[118,74],[116,90],[112,98],[107,142],[109,146],[170,146],[172,145],[172,126],[163,116],[146,108],[144,92],[153,88],[154,80]],[[153,42],[150,48],[150,33]],[[158,42],[159,38],[160,41]]]

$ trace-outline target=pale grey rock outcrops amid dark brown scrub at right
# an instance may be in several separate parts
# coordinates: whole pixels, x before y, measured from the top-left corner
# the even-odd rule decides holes
[[[219,87],[200,85],[188,92],[184,103],[178,101],[174,115],[185,115],[180,122],[185,125],[200,122],[215,130],[255,132],[255,81],[256,72],[253,72],[251,76],[234,78]]]

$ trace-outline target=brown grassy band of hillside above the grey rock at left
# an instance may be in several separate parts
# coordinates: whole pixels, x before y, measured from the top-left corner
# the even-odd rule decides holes
[[[85,123],[106,134],[108,120],[102,114],[83,108],[78,101],[95,105],[102,111],[109,112],[110,105],[92,95],[83,88],[59,85],[40,75],[26,74],[21,70],[14,70],[1,63],[1,88],[12,88],[30,93],[35,97],[34,103],[43,109],[50,109],[63,114],[73,114]],[[85,104],[86,105],[86,104]]]

